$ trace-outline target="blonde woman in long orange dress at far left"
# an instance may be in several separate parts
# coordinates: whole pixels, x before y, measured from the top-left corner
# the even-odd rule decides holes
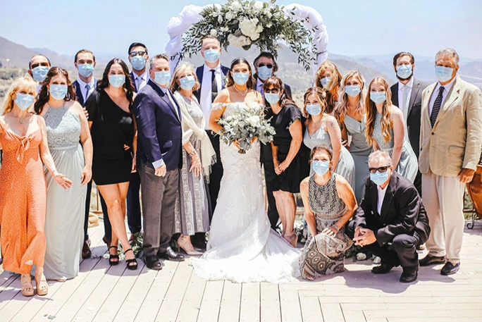
[[[33,265],[37,294],[47,295],[49,290],[43,268],[47,189],[42,161],[58,185],[65,189],[72,185],[56,171],[43,118],[28,111],[36,88],[32,78],[18,78],[6,93],[0,116],[0,144],[4,150],[0,170],[1,250],[4,270],[22,275],[20,284],[25,296],[35,293],[30,278]]]

